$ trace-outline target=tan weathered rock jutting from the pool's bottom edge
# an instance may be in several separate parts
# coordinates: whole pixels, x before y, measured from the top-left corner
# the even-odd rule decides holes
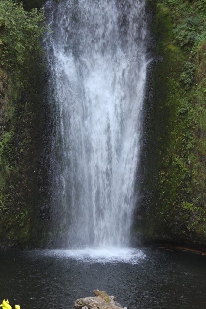
[[[117,303],[114,296],[109,296],[105,291],[94,290],[93,293],[95,297],[77,299],[74,309],[127,309]]]

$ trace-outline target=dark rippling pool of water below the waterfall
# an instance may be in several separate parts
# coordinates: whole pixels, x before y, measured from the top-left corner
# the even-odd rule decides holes
[[[141,251],[136,264],[89,263],[58,251],[0,252],[0,301],[8,298],[21,309],[72,308],[99,289],[128,309],[205,309],[205,256]]]

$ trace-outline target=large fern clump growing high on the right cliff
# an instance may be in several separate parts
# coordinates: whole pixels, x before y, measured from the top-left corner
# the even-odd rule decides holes
[[[178,25],[173,31],[176,35],[174,43],[177,42],[184,49],[188,49],[191,44],[200,40],[206,29],[206,22],[203,22],[199,16],[187,17],[182,22],[183,24]]]

